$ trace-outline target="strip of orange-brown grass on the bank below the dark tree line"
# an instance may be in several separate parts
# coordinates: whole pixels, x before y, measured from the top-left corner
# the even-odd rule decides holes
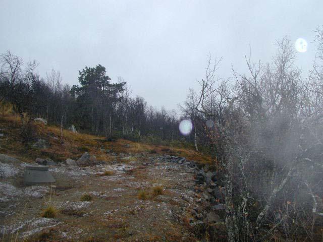
[[[17,115],[0,115],[0,127],[9,130],[7,143],[2,145],[1,151],[7,154],[19,155],[23,154],[25,159],[33,160],[36,157],[48,156],[48,158],[57,161],[64,161],[67,158],[78,159],[82,152],[88,151],[90,154],[96,155],[100,161],[113,161],[113,156],[106,154],[100,149],[110,149],[114,153],[147,153],[147,154],[170,154],[176,156],[184,156],[188,160],[194,160],[199,163],[211,164],[213,159],[205,154],[196,152],[188,148],[174,148],[160,145],[138,144],[129,140],[118,139],[117,141],[106,141],[105,137],[93,136],[82,133],[72,133],[68,130],[63,131],[64,144],[60,142],[60,127],[45,126],[41,123],[34,123],[33,132],[35,137],[46,139],[50,143],[50,147],[41,150],[29,149],[26,154],[27,147],[21,142],[20,138],[20,117]],[[55,138],[53,138],[55,137]],[[82,148],[81,148],[82,147]],[[0,151],[0,152],[1,152]],[[13,153],[14,152],[14,153]]]

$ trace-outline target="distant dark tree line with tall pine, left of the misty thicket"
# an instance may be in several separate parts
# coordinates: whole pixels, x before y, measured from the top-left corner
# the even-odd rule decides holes
[[[189,113],[149,106],[143,97],[131,97],[132,90],[118,77],[113,83],[105,67],[85,67],[79,71],[79,85],[63,83],[59,71],[51,70],[41,77],[38,63],[28,62],[11,51],[0,55],[0,103],[2,114],[6,105],[21,118],[25,131],[31,120],[41,117],[48,124],[107,138],[141,139],[155,144],[193,142],[194,135],[184,137],[178,126]],[[195,122],[202,128],[202,123]],[[196,127],[195,127],[196,126]],[[195,139],[196,140],[196,139]]]

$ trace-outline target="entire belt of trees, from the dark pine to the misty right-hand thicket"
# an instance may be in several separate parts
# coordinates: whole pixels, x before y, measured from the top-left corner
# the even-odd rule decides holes
[[[296,241],[300,231],[306,241],[317,241],[323,219],[323,27],[315,32],[317,54],[306,78],[287,37],[277,41],[270,63],[246,56],[249,72],[233,66],[227,78],[217,75],[222,57],[209,55],[200,89],[189,89],[181,113],[149,106],[132,95],[136,87],[132,91],[121,77],[111,80],[99,64],[81,67],[79,85],[70,87],[59,71],[40,77],[36,61],[24,64],[7,51],[0,56],[2,113],[11,105],[22,133],[42,117],[110,139],[186,142],[214,155],[229,241],[268,241],[273,234]],[[193,124],[187,137],[178,130],[182,119]]]

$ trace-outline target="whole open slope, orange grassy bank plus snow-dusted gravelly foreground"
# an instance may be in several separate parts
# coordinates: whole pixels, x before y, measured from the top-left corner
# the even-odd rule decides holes
[[[210,157],[69,131],[62,145],[59,128],[43,124],[35,124],[26,141],[17,117],[0,122],[2,240],[225,241],[223,222],[209,210],[210,195],[196,179],[193,160],[210,163]],[[96,163],[66,164],[84,152]],[[23,185],[25,166],[35,158],[55,162],[49,166],[54,185]]]

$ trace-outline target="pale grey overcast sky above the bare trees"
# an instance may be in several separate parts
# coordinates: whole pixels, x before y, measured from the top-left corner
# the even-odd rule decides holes
[[[78,84],[78,70],[101,64],[134,96],[176,109],[189,87],[198,90],[208,53],[224,57],[219,75],[229,77],[231,63],[245,71],[249,44],[253,60],[266,62],[276,39],[302,37],[308,50],[297,54],[297,64],[306,75],[322,13],[322,0],[1,0],[0,52],[36,59],[41,76],[53,68],[70,85]]]

